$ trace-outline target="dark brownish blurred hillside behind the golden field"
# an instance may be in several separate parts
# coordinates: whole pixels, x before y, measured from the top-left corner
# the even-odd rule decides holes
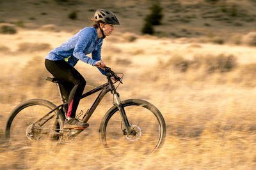
[[[90,18],[97,8],[116,13],[122,25],[119,32],[141,33],[144,18],[150,13],[150,0],[12,0],[1,1],[0,22],[19,25],[28,29],[54,24],[58,31],[76,31],[91,24]],[[163,8],[162,25],[156,27],[158,36],[200,37],[221,36],[227,39],[234,34],[246,34],[255,28],[255,1],[250,0],[197,0],[159,1]],[[77,19],[68,15],[76,11]]]

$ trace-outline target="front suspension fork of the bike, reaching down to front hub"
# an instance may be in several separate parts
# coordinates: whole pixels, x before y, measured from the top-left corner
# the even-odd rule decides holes
[[[122,129],[122,130],[124,132],[124,135],[126,135],[126,134],[128,134],[130,132],[130,124],[128,122],[125,110],[124,110],[124,108],[123,108],[123,106],[121,104],[121,100],[120,100],[120,96],[119,96],[118,92],[114,93],[114,98],[115,98],[116,106],[117,106],[117,108],[119,110],[120,116],[122,118],[122,121],[124,122],[124,125],[125,125],[125,129]]]

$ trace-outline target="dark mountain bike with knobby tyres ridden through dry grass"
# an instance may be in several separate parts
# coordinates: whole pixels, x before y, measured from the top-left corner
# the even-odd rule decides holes
[[[116,89],[122,83],[124,74],[115,73],[110,67],[105,67],[105,71],[107,83],[81,96],[83,99],[100,91],[91,108],[86,113],[78,114],[77,118],[88,122],[102,98],[111,92],[113,106],[102,118],[99,128],[102,145],[113,154],[120,152],[122,148],[131,152],[156,152],[163,145],[166,136],[163,115],[156,106],[147,101],[141,99],[121,101]],[[84,131],[84,129],[63,129],[68,102],[61,92],[61,81],[49,77],[46,80],[56,83],[61,104],[56,106],[45,99],[30,99],[16,106],[6,122],[5,136],[10,143],[22,141],[26,144],[37,142],[58,146]]]

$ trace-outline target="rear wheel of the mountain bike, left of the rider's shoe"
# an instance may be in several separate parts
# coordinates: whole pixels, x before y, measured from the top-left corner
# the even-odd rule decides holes
[[[54,104],[44,99],[31,99],[20,103],[6,122],[6,139],[19,146],[34,142],[40,146],[56,146],[62,138],[61,129],[65,118],[58,109],[49,113],[54,108]]]

